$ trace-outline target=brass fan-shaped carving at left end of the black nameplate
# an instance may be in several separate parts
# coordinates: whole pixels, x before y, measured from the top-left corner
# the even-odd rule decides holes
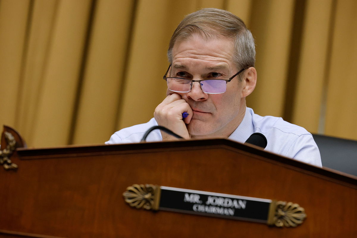
[[[125,202],[131,207],[159,209],[160,187],[152,184],[133,184],[123,193]]]

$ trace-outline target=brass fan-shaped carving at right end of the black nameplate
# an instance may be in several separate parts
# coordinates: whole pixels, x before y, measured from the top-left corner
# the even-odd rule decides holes
[[[305,209],[292,202],[273,201],[268,224],[277,227],[296,227],[306,218]]]

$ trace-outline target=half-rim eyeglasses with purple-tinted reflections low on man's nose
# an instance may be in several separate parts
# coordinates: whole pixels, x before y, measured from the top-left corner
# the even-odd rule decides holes
[[[227,90],[227,83],[230,82],[234,77],[248,69],[250,66],[246,66],[241,69],[237,74],[233,75],[229,79],[203,79],[203,80],[191,80],[178,77],[166,77],[169,72],[171,65],[167,69],[164,80],[167,82],[167,88],[173,92],[190,92],[192,89],[193,82],[199,82],[201,89],[205,93],[218,94],[224,93]]]

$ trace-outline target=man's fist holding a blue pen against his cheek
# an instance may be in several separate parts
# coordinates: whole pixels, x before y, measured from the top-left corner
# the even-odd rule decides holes
[[[188,116],[183,118],[182,113],[187,112]],[[156,108],[154,117],[159,126],[164,126],[186,140],[190,139],[186,124],[190,123],[193,112],[188,103],[181,98],[178,93],[167,96]],[[161,132],[162,140],[176,140],[165,132]]]

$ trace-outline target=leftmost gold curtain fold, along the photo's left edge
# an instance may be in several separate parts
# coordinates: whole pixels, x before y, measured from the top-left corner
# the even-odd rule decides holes
[[[0,123],[17,127],[30,0],[0,2]]]

